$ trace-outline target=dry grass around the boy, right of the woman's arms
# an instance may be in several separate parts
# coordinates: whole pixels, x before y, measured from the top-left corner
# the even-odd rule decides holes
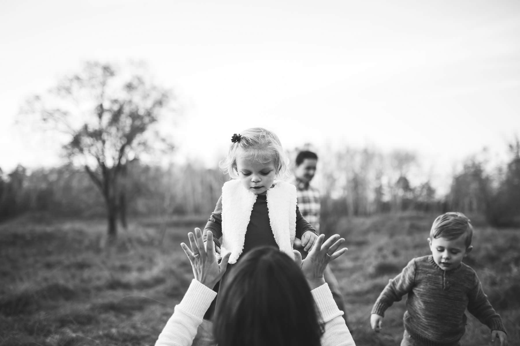
[[[370,328],[370,311],[381,290],[413,257],[429,254],[426,238],[436,215],[379,215],[345,218],[337,229],[349,251],[332,264],[347,303],[357,345],[398,346],[406,297],[385,314],[383,330]],[[495,229],[477,224],[474,250],[465,259],[472,266],[493,307],[501,314],[510,345],[520,345],[520,229]],[[469,315],[469,314],[468,314]],[[490,344],[490,330],[469,315],[462,345]]]

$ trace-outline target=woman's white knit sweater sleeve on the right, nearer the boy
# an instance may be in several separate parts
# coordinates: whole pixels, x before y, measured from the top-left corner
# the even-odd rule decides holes
[[[328,284],[311,290],[318,307],[321,321],[325,323],[325,333],[321,336],[321,346],[355,346],[345,324],[343,312],[337,308]]]

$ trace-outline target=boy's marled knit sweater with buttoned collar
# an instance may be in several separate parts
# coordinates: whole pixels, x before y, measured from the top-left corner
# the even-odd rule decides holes
[[[386,309],[405,294],[408,294],[403,317],[405,328],[414,339],[427,345],[459,341],[466,327],[466,308],[491,330],[505,332],[502,319],[489,303],[477,274],[464,263],[444,271],[431,255],[412,259],[388,282],[372,313],[384,316]]]

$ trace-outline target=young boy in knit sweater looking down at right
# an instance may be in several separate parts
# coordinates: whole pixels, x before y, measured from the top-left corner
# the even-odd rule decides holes
[[[412,259],[390,280],[376,300],[370,324],[379,332],[384,313],[408,294],[401,346],[460,345],[466,328],[465,309],[491,329],[491,341],[507,336],[500,315],[482,290],[475,271],[462,263],[471,252],[473,227],[462,213],[439,215],[430,231],[432,255]]]

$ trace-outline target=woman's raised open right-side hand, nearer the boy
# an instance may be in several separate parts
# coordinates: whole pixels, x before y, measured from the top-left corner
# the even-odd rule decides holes
[[[296,263],[301,266],[302,272],[311,286],[311,289],[319,287],[325,283],[323,273],[330,261],[343,255],[348,249],[346,247],[336,251],[345,242],[339,234],[334,234],[327,241],[323,242],[324,234],[320,234],[309,254],[302,261],[302,255],[293,250]],[[330,253],[330,255],[329,255]]]

